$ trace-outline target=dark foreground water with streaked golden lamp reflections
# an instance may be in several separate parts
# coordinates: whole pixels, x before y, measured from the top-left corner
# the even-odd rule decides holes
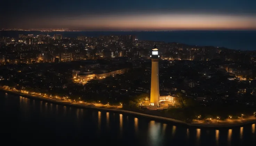
[[[197,129],[1,92],[0,126],[1,143],[8,145],[256,145],[255,124],[231,129]]]

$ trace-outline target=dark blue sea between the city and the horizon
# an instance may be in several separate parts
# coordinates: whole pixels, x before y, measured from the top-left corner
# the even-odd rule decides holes
[[[157,32],[39,32],[0,31],[0,36],[18,37],[18,34],[63,34],[63,37],[136,35],[138,40],[177,42],[198,46],[225,47],[236,50],[256,50],[256,31],[157,31]]]

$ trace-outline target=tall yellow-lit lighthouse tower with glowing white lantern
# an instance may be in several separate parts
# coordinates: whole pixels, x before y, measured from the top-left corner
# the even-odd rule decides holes
[[[150,104],[149,108],[157,109],[159,107],[159,71],[158,71],[158,49],[157,46],[154,46],[152,49],[152,55],[150,55],[152,62],[151,66],[151,91],[150,91]]]

